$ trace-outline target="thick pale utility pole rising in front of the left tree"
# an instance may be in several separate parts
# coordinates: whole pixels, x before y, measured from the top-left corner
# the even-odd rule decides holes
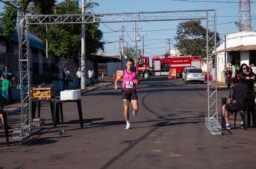
[[[81,90],[86,89],[86,2],[82,0],[82,37],[81,37]]]

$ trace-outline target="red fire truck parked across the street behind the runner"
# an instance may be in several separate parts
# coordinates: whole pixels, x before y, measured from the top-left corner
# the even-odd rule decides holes
[[[150,67],[150,59],[148,57],[140,57],[136,64],[137,72],[145,79],[151,75],[167,76],[170,69],[176,69],[177,76],[180,75],[185,67],[198,67],[201,69],[201,57],[163,57],[158,56],[152,58],[152,67]]]

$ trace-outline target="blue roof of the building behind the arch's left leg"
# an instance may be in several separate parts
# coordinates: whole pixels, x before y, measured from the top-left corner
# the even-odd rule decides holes
[[[0,32],[3,30],[2,26],[0,25]],[[11,37],[12,42],[17,42],[19,43],[19,38],[18,38],[18,33],[15,32],[12,34]],[[42,51],[45,51],[45,47],[42,45],[42,40],[35,36],[34,34],[29,33],[29,46],[30,47],[35,47],[36,49],[40,49]]]

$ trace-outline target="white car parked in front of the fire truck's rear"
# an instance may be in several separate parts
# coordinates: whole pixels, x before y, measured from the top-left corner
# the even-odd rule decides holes
[[[184,77],[184,82],[186,84],[188,84],[188,82],[204,83],[204,74],[202,70],[198,68],[187,69]]]

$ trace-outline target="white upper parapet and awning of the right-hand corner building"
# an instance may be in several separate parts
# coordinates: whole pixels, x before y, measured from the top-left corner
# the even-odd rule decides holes
[[[228,34],[226,36],[226,42],[222,43],[216,49],[217,53],[250,50],[256,50],[256,32]]]

